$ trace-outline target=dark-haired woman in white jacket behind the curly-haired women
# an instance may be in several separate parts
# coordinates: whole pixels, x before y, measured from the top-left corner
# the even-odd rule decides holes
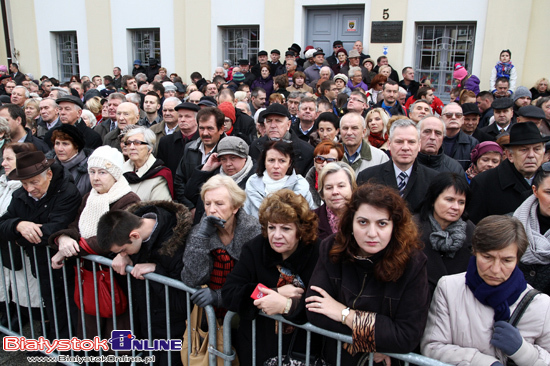
[[[294,149],[286,140],[267,140],[265,148],[258,159],[258,170],[246,182],[247,214],[258,216],[258,210],[264,198],[275,191],[286,188],[304,196],[310,208],[316,209],[309,184],[304,177],[294,170]]]

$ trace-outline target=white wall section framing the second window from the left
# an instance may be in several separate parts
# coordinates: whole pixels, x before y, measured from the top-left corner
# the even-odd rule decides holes
[[[123,75],[131,72],[134,61],[131,29],[159,28],[161,66],[166,67],[168,73],[175,71],[173,8],[172,0],[111,0],[113,66],[119,66]]]

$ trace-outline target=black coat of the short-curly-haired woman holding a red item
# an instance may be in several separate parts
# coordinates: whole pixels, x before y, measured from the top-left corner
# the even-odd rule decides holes
[[[258,235],[245,244],[241,252],[241,258],[233,271],[227,277],[222,288],[224,306],[231,311],[239,313],[241,322],[238,330],[237,353],[241,365],[252,364],[252,320],[256,319],[256,340],[258,350],[256,364],[262,365],[270,357],[277,356],[277,334],[275,334],[275,322],[271,319],[257,316],[258,308],[254,306],[254,300],[250,297],[254,289],[261,283],[271,289],[277,287],[279,270],[277,265],[298,274],[306,288],[309,287],[309,279],[317,263],[319,255],[318,242],[303,245],[298,244],[296,251],[287,260],[271,249],[269,241],[262,235]],[[295,311],[285,316],[286,319],[303,324],[306,322],[305,294],[302,295]],[[291,335],[283,336],[283,354],[288,351]],[[305,345],[306,333],[301,331],[296,337],[295,349],[301,349]],[[312,352],[318,347],[312,345]]]

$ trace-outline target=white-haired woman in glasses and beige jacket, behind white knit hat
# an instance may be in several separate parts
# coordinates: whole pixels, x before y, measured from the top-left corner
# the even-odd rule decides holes
[[[132,191],[142,201],[171,201],[172,172],[152,154],[155,141],[155,134],[148,128],[140,126],[129,130],[124,136],[129,159],[122,170]]]

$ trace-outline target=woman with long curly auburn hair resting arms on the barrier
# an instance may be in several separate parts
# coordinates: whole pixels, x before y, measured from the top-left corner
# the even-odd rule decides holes
[[[309,321],[351,334],[342,365],[355,365],[369,352],[413,351],[426,325],[428,299],[426,255],[407,204],[390,187],[363,184],[337,234],[319,248],[306,293]],[[331,364],[335,351],[335,341],[327,341]],[[389,357],[375,353],[374,361]]]

